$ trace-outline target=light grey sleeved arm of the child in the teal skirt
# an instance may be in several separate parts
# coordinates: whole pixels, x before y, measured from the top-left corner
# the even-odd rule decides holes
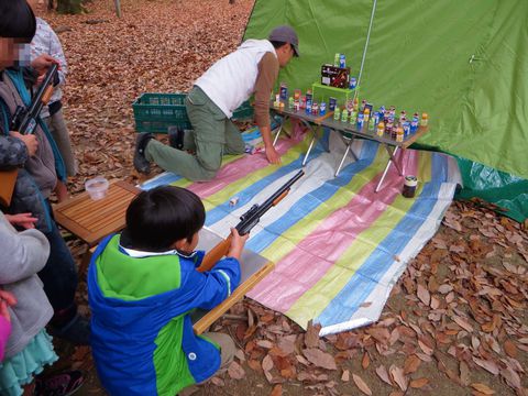
[[[4,257],[0,265],[0,284],[10,284],[36,274],[46,264],[50,243],[37,230],[16,232],[0,215],[0,252]]]

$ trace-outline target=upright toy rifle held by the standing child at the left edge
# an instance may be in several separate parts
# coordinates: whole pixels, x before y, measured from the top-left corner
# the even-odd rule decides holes
[[[18,131],[21,134],[31,134],[35,131],[38,114],[44,105],[47,105],[52,97],[53,81],[57,74],[57,64],[52,64],[52,66],[50,66],[46,76],[44,77],[44,81],[38,87],[38,90],[28,109],[22,106],[16,107],[11,124],[9,125],[10,131]],[[0,205],[4,207],[9,207],[11,204],[18,173],[18,168],[0,170]]]

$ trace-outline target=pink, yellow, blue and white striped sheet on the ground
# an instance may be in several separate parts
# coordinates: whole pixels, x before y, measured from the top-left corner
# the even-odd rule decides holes
[[[394,166],[378,193],[388,155],[376,142],[356,140],[359,161],[344,163],[334,177],[344,144],[324,132],[305,167],[306,175],[252,230],[246,249],[275,262],[275,271],[248,295],[301,327],[321,323],[321,336],[378,319],[393,285],[440,226],[457,183],[457,162],[448,155],[406,150],[404,173],[419,180],[416,197],[400,194]],[[195,191],[207,210],[206,227],[228,235],[239,217],[263,202],[301,167],[309,136],[279,140],[282,165],[265,156],[227,157],[217,177],[191,183],[165,173],[142,187],[177,185]],[[330,148],[327,152],[323,146]],[[238,197],[235,206],[231,198]]]

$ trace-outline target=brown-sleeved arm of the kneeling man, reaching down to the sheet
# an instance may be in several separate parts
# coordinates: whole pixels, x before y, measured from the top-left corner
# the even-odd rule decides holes
[[[275,151],[270,125],[270,97],[278,77],[278,61],[273,53],[266,53],[258,63],[255,81],[255,123],[261,130],[267,161],[280,163],[280,155]]]

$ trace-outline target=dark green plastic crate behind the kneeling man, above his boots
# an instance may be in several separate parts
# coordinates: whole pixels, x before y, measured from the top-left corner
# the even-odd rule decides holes
[[[133,103],[138,132],[167,133],[168,127],[193,129],[185,109],[187,94],[143,94]]]

